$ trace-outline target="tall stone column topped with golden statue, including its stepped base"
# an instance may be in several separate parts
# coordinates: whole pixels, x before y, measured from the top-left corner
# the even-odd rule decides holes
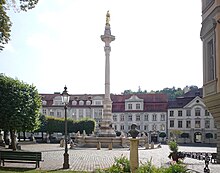
[[[105,98],[103,103],[103,118],[100,122],[98,130],[98,136],[101,137],[113,137],[116,136],[114,129],[112,128],[112,101],[110,98],[110,43],[115,40],[115,36],[111,35],[110,28],[110,14],[109,11],[106,14],[106,24],[104,35],[101,35],[101,40],[105,43]]]

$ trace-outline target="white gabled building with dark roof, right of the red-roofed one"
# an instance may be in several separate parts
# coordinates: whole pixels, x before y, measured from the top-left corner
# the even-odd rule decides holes
[[[207,110],[202,89],[187,92],[168,102],[168,137],[175,137],[180,143],[216,143],[217,128]]]

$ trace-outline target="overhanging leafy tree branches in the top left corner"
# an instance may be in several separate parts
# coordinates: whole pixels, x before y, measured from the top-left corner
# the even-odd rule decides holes
[[[38,0],[0,0],[0,51],[10,40],[12,22],[6,11],[10,8],[16,11],[27,11],[34,8],[37,3]]]

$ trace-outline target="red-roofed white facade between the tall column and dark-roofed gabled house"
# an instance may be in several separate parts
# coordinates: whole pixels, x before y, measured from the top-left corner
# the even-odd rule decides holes
[[[167,133],[167,103],[165,94],[112,95],[115,130],[128,133],[135,123],[149,142],[160,142],[160,133]]]

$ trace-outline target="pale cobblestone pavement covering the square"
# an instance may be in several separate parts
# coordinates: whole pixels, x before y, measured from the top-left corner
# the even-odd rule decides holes
[[[26,144],[22,145],[22,150],[27,151],[41,151],[43,155],[43,162],[40,163],[40,169],[42,170],[58,170],[63,167],[63,154],[64,148],[61,148],[59,144]],[[216,152],[215,147],[187,147],[179,146],[180,151],[193,151],[193,152]],[[146,163],[151,160],[152,163],[158,167],[168,166],[170,163],[169,148],[167,145],[162,145],[162,148],[145,150],[144,148],[139,148],[139,160],[141,163]],[[128,148],[113,148],[113,150],[108,150],[108,148],[101,148],[97,150],[96,148],[75,148],[69,149],[69,163],[70,170],[74,171],[94,171],[98,168],[110,167],[115,157],[120,157],[121,155],[129,158]],[[185,158],[184,163],[187,167],[194,172],[202,173],[205,167],[204,161]],[[25,164],[15,164],[6,163],[6,166],[17,166],[17,167],[34,167],[33,165]],[[219,164],[209,164],[211,173],[219,173]]]

